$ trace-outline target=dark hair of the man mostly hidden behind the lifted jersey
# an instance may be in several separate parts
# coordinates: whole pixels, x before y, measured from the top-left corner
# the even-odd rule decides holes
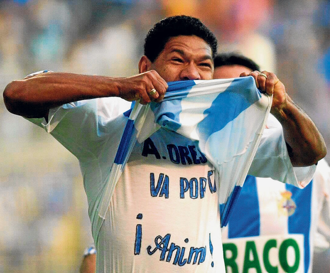
[[[260,66],[253,60],[236,52],[221,53],[214,57],[214,68],[223,65],[242,65],[248,67],[252,71],[260,71]]]

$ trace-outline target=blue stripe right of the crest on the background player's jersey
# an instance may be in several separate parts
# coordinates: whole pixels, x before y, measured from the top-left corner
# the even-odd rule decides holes
[[[285,184],[286,190],[292,192],[292,200],[296,203],[295,212],[288,217],[288,233],[304,234],[305,273],[310,264],[310,229],[311,229],[311,201],[313,180],[304,188],[299,189]]]

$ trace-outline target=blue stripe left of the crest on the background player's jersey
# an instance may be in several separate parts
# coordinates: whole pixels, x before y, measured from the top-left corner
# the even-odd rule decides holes
[[[228,221],[228,238],[260,235],[257,180],[248,175]]]

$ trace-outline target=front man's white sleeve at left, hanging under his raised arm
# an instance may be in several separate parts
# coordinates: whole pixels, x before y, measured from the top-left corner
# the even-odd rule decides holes
[[[95,98],[64,104],[49,110],[45,118],[28,118],[44,128],[78,159],[97,157],[104,141],[112,137],[116,117],[131,102],[118,97]]]

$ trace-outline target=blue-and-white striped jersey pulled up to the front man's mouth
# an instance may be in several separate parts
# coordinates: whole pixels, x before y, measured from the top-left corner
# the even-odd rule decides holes
[[[129,113],[109,182],[98,209],[101,227],[112,194],[136,141],[160,127],[199,141],[214,165],[221,224],[244,183],[260,142],[272,97],[261,94],[253,77],[168,83],[161,103],[135,103]]]

